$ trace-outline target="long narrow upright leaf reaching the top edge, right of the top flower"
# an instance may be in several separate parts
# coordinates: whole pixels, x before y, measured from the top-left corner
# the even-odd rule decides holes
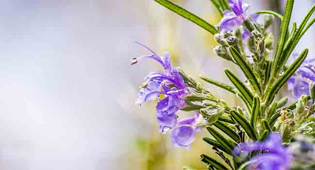
[[[293,3],[294,3],[294,0],[286,1],[286,5],[284,9],[284,16],[283,16],[283,20],[280,27],[277,50],[276,50],[276,54],[272,63],[271,75],[273,77],[276,77],[276,75],[279,73],[281,69],[279,67],[280,57],[284,48],[284,44],[286,40],[285,37],[286,37],[286,34],[288,33],[289,23],[290,23],[292,9],[293,9]]]

